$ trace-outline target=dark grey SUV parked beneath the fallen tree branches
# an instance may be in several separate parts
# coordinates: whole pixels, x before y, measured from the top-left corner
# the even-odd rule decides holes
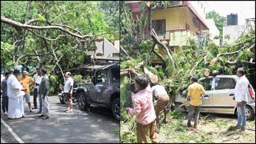
[[[93,67],[91,82],[83,83],[77,89],[78,106],[82,110],[86,110],[90,105],[109,107],[114,118],[119,120],[120,63]]]

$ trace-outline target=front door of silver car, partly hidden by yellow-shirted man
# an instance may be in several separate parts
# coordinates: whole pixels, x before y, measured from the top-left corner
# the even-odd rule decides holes
[[[202,99],[202,105],[200,111],[209,112],[212,109],[212,99],[213,99],[213,78],[203,78],[198,81],[199,84],[205,89],[205,97]]]

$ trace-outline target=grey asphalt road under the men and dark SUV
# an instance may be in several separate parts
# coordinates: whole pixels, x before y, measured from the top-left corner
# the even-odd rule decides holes
[[[113,118],[110,110],[91,106],[90,113],[87,113],[78,110],[77,103],[74,103],[74,112],[65,113],[67,106],[61,104],[57,96],[51,96],[49,102],[49,119],[38,118],[38,109],[29,112],[25,102],[25,118],[10,120],[7,115],[1,115],[1,118],[25,143],[119,143],[119,133],[116,133],[119,131],[119,121]],[[33,107],[33,97],[31,105]],[[8,133],[2,133],[2,126],[1,123],[1,137]],[[9,138],[13,137],[10,135]]]

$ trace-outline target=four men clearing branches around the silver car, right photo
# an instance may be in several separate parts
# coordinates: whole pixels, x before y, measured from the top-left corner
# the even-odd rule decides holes
[[[153,143],[157,143],[157,133],[159,130],[158,115],[159,112],[163,110],[165,113],[163,121],[166,122],[166,107],[169,103],[169,96],[163,86],[158,85],[158,83],[153,83],[153,87],[150,87],[149,78],[138,74],[134,69],[129,69],[129,72],[137,76],[135,77],[135,87],[138,90],[138,93],[132,97],[133,109],[126,107],[126,113],[136,116],[137,143],[149,143],[149,139],[151,139]],[[249,81],[245,77],[245,70],[242,68],[238,68],[237,76],[239,77],[239,81],[235,86],[235,96],[233,99],[237,103],[238,122],[236,127],[242,124],[241,130],[238,131],[238,133],[241,133],[242,131],[245,131],[246,91]],[[191,120],[194,117],[194,128],[197,129],[199,111],[202,105],[201,95],[205,95],[206,91],[203,86],[198,83],[197,77],[192,77],[191,82],[192,84],[189,86],[187,94],[187,100],[190,101],[187,127],[191,127]],[[154,98],[157,98],[155,109],[153,103]]]

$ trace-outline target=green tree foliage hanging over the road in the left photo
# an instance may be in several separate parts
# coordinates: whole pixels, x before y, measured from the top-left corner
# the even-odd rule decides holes
[[[106,7],[113,5],[113,7]],[[119,38],[118,1],[1,1],[1,73],[22,65],[47,69],[50,91],[64,82],[62,70],[81,66],[95,39]],[[57,29],[25,29],[2,22],[2,17],[33,26],[61,26],[83,39]],[[35,20],[35,21],[34,21]],[[65,73],[64,73],[65,74]]]

